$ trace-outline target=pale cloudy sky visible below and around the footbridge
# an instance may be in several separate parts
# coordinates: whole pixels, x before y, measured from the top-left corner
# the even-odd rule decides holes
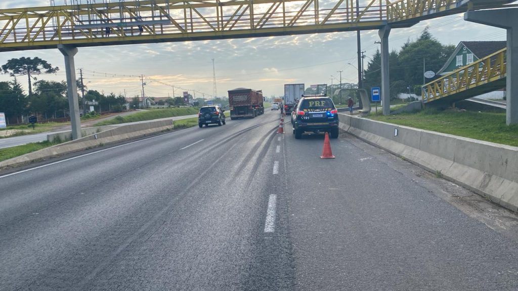
[[[55,0],[55,3],[64,1]],[[48,4],[49,0],[1,0],[0,9]],[[466,22],[463,14],[457,14],[392,30],[391,50],[398,50],[407,39],[418,37],[426,26],[438,40],[447,44],[506,39],[505,30]],[[367,56],[379,48],[375,41],[379,41],[377,31],[362,32],[362,46]],[[42,75],[39,79],[66,79],[63,56],[57,49],[2,52],[0,65],[22,56],[38,56],[61,68],[56,75]],[[340,70],[343,71],[342,82],[357,82],[356,68],[348,64],[356,66],[357,63],[355,32],[80,48],[75,62],[77,69],[84,70],[88,89],[99,92],[118,94],[125,90],[127,97],[133,97],[140,94],[139,76],[142,74],[147,82],[147,96],[172,96],[173,91],[180,96],[182,89],[188,89],[204,92],[205,97],[209,97],[213,92],[211,59],[215,63],[218,96],[225,96],[226,91],[238,87],[278,96],[283,94],[284,83],[336,84]],[[11,79],[0,75],[0,81]],[[26,87],[26,80],[20,81]],[[199,94],[196,93],[196,97]]]

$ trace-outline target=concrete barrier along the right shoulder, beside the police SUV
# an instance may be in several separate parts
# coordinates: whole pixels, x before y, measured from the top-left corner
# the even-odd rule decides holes
[[[518,212],[518,147],[339,114],[342,130]]]

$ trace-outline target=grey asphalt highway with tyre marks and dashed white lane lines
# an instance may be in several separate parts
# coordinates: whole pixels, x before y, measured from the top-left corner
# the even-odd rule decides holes
[[[321,160],[323,137],[286,123],[267,111],[0,172],[0,290],[518,289],[509,229],[348,135]]]

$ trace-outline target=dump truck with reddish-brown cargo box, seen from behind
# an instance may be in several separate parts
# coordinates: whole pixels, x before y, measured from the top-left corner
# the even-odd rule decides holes
[[[228,91],[228,106],[230,118],[255,118],[264,113],[263,91],[247,88],[237,88]]]

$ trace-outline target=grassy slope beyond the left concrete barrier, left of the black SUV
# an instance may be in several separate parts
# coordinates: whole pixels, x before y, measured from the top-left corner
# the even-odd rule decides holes
[[[138,112],[135,114],[124,116],[124,117],[118,116],[114,119],[98,122],[95,124],[95,126],[120,124],[120,123],[136,122],[136,121],[146,121],[146,120],[153,120],[153,119],[160,119],[160,118],[176,117],[176,116],[181,116],[181,115],[197,114],[198,110],[199,109],[196,107],[146,110],[143,112]]]

